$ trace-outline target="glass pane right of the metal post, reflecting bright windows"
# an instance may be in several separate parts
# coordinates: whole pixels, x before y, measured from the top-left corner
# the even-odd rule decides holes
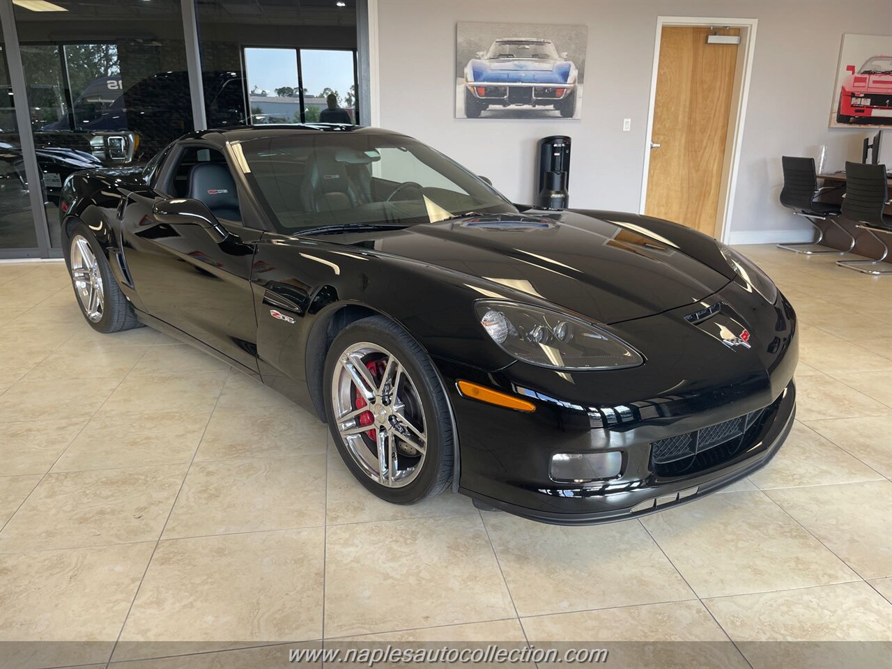
[[[346,112],[337,122],[359,123],[356,9],[356,0],[198,0],[208,126],[325,121],[330,94]],[[223,82],[232,88],[219,103]]]

